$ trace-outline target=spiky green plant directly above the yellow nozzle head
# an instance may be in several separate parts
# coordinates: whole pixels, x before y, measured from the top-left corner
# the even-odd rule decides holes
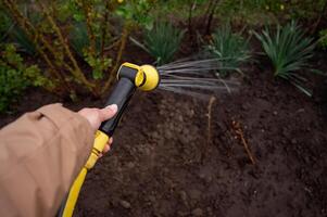
[[[146,31],[144,46],[150,55],[155,58],[158,65],[173,60],[179,49],[184,33],[166,22],[156,23],[151,30]]]

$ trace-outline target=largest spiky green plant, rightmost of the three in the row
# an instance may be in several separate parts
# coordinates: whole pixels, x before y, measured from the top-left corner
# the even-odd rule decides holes
[[[311,97],[311,91],[303,84],[306,79],[297,72],[310,67],[307,61],[313,56],[316,44],[314,39],[306,37],[294,21],[285,27],[278,25],[275,33],[266,28],[262,34],[254,34],[272,61],[274,76],[289,80],[299,90]]]

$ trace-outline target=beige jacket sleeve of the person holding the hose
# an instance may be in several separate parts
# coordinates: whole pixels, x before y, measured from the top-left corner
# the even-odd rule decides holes
[[[0,216],[54,216],[92,141],[88,120],[61,104],[1,129]]]

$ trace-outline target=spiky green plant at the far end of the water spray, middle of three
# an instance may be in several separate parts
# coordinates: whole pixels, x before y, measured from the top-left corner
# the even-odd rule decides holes
[[[242,73],[240,65],[251,58],[249,40],[240,34],[232,33],[229,25],[216,29],[205,50],[222,64],[218,75],[223,77],[232,71]]]

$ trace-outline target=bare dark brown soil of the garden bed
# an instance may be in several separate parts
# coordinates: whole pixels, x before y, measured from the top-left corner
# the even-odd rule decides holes
[[[88,174],[75,216],[327,216],[323,95],[306,98],[256,66],[247,75],[239,92],[214,102],[211,138],[207,100],[137,93],[112,151]],[[30,90],[17,111],[58,100]],[[15,117],[0,116],[1,125]],[[241,125],[255,165],[232,122]]]

